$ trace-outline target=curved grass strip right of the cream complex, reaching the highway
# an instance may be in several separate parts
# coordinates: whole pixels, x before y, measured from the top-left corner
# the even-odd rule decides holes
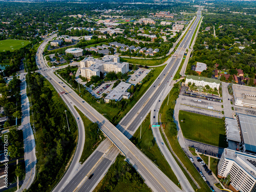
[[[164,63],[169,57],[161,58],[161,59],[133,59],[133,58],[126,58],[122,57],[120,58],[121,62],[129,62],[133,64],[138,64],[142,66],[158,66],[162,63]]]

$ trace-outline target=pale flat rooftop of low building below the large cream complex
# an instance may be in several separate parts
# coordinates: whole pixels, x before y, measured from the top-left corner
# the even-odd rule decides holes
[[[117,101],[122,95],[129,96],[130,93],[126,92],[132,84],[126,82],[120,82],[117,87],[115,87],[105,99],[112,99]]]

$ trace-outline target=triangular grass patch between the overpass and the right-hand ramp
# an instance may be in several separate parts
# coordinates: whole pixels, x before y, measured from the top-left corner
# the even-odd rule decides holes
[[[141,139],[140,129],[138,129],[133,135],[131,141],[139,148],[139,150],[143,152],[143,154],[150,158],[170,180],[172,180],[178,186],[179,181],[172,168],[170,168],[168,162],[162,156],[156,140],[154,139],[152,130],[148,129],[149,126],[150,114],[148,114],[145,120],[142,122]]]

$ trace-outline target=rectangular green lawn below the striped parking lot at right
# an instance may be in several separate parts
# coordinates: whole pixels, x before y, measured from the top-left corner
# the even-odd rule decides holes
[[[179,121],[185,138],[219,147],[227,147],[225,126],[222,119],[180,111]]]

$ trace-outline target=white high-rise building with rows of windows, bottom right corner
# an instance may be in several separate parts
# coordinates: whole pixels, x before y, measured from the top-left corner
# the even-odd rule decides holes
[[[226,178],[228,175],[231,190],[256,191],[256,157],[225,148],[218,164],[218,177]]]

